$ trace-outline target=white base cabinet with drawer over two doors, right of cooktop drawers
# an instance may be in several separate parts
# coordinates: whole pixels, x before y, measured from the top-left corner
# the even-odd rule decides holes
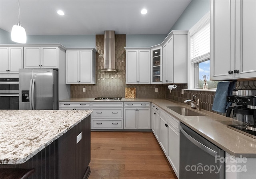
[[[150,103],[124,103],[124,129],[150,129]]]

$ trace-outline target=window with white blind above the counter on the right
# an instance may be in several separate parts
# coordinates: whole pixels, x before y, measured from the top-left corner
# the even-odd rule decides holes
[[[218,82],[210,81],[210,12],[189,30],[190,89],[216,88]],[[204,79],[205,78],[205,79]]]

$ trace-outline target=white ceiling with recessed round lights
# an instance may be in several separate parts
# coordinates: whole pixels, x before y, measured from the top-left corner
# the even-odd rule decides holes
[[[167,34],[190,1],[21,0],[20,23],[27,35]],[[0,28],[11,32],[17,22],[18,0],[0,0]]]

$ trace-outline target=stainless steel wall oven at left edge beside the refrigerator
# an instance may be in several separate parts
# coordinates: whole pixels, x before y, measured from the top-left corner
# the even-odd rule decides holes
[[[19,109],[18,78],[0,78],[0,109]]]

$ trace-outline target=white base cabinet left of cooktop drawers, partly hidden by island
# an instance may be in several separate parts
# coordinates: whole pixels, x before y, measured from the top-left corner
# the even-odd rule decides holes
[[[59,110],[91,110],[90,102],[59,102]]]

